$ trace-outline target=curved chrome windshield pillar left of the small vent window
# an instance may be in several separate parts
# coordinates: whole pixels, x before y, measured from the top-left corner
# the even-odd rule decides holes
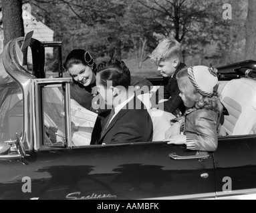
[[[5,71],[19,83],[23,92],[23,132],[21,141],[29,150],[33,149],[33,112],[31,97],[31,79],[35,79],[33,75],[25,71],[17,60],[15,43],[23,41],[23,37],[13,39],[3,50],[3,66]],[[26,146],[27,145],[27,146]]]

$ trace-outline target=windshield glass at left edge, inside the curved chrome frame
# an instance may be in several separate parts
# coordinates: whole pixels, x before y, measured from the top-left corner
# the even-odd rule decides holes
[[[23,93],[19,84],[0,67],[0,142],[15,140],[23,131]]]

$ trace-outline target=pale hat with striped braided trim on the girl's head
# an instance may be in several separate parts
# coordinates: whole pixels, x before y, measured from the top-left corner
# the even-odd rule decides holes
[[[188,77],[197,91],[205,97],[213,97],[217,87],[217,69],[194,66],[188,67]]]

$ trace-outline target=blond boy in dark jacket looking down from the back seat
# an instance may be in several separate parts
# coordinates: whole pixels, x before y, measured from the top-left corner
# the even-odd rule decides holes
[[[180,91],[176,81],[176,74],[186,68],[186,65],[181,63],[180,43],[175,39],[164,39],[149,57],[156,64],[157,70],[162,75],[163,81],[160,86],[164,87],[164,94],[160,94],[158,90],[156,95],[152,96],[155,98],[151,100],[152,108],[156,108],[155,106],[158,105],[160,100],[168,99],[163,103],[164,111],[170,112],[175,116],[182,114],[186,107],[179,96]]]

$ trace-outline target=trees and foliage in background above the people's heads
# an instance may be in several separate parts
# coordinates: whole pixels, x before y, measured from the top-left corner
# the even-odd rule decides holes
[[[134,73],[156,76],[155,65],[146,58],[164,37],[173,37],[182,44],[187,65],[218,67],[245,60],[248,0],[23,3],[31,4],[33,15],[55,31],[55,41],[63,41],[63,60],[72,49],[86,49],[98,62],[123,59]],[[223,19],[225,3],[232,6],[231,20]]]

